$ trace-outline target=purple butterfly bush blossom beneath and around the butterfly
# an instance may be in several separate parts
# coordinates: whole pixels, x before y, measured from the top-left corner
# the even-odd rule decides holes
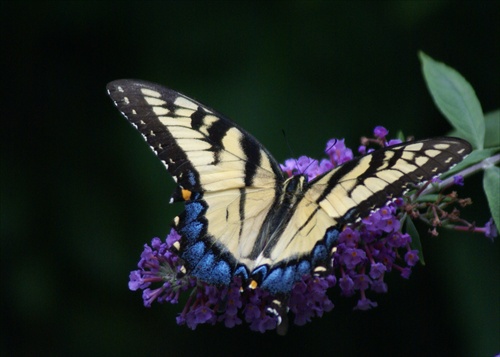
[[[401,142],[386,140],[387,135],[387,129],[377,126],[373,139],[362,138],[358,152],[373,151],[368,148],[370,144],[390,146]],[[344,139],[328,141],[325,152],[328,160],[318,162],[301,156],[296,160],[286,160],[280,165],[281,169],[288,176],[304,174],[312,180],[353,158],[353,152],[345,146]],[[454,184],[463,185],[463,177],[456,176],[453,180]],[[229,286],[215,287],[182,274],[182,259],[173,248],[180,235],[174,229],[164,242],[154,238],[151,244],[144,245],[139,269],[130,273],[129,288],[142,290],[146,307],[154,301],[176,304],[185,293],[187,301],[177,316],[177,323],[193,330],[199,324],[223,323],[232,328],[244,321],[253,331],[277,329],[280,332],[281,328],[281,333],[284,333],[288,317],[293,317],[292,322],[300,326],[332,310],[334,305],[327,294],[331,288],[346,297],[356,296],[355,310],[368,310],[377,306],[372,300],[374,294],[387,292],[384,281],[387,273],[394,271],[407,279],[419,262],[419,251],[412,246],[412,238],[401,230],[402,220],[407,216],[418,217],[419,208],[408,197],[397,198],[359,223],[345,227],[334,249],[331,272],[326,276],[305,276],[294,285],[284,301],[277,302],[276,296],[259,287],[242,286],[239,278],[234,278]],[[456,222],[453,214],[450,217],[451,222]],[[434,227],[431,233],[436,235],[436,226],[443,222],[437,222],[436,217],[429,222]],[[473,230],[490,238],[498,234],[492,220],[482,228],[468,225],[455,229]]]

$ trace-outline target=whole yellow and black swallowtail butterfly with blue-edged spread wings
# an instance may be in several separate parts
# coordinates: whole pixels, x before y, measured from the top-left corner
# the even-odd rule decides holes
[[[346,224],[471,151],[456,138],[408,142],[307,182],[304,175],[286,178],[252,135],[183,94],[139,80],[107,89],[177,182],[171,202],[185,202],[173,223],[177,248],[186,272],[209,284],[240,276],[251,287],[287,294],[304,275],[330,268]]]

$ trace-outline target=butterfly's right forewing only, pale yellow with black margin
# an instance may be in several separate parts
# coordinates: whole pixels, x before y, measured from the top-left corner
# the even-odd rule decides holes
[[[471,150],[465,140],[449,137],[386,147],[318,177],[311,182],[306,198],[336,223],[352,223],[400,197],[408,184],[446,172]]]

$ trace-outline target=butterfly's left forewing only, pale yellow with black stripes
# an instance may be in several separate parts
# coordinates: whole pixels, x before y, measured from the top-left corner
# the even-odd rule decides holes
[[[183,189],[275,187],[282,180],[262,145],[212,109],[149,82],[119,80],[107,88]]]

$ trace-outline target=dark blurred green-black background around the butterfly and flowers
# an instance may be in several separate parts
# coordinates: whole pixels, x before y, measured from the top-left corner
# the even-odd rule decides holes
[[[357,148],[375,125],[424,138],[450,127],[417,51],[499,107],[499,2],[87,2],[0,4],[2,355],[309,354],[492,356],[500,352],[499,242],[430,238],[427,265],[393,274],[379,307],[355,299],[286,337],[175,324],[127,288],[144,242],[181,206],[172,180],[105,85],[162,83],[216,108],[279,161]],[[286,139],[282,136],[286,131]],[[481,177],[465,218],[489,218]],[[5,352],[5,353],[4,353]]]

